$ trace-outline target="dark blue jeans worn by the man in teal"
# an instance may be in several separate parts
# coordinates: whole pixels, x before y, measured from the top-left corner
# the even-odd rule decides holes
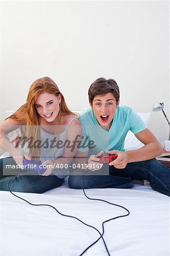
[[[148,180],[154,190],[170,196],[170,170],[156,159],[128,163],[123,169],[110,166],[109,175],[100,172],[103,174],[102,168],[94,172],[73,170],[69,187],[81,189],[84,183],[84,188],[131,188],[132,180]]]

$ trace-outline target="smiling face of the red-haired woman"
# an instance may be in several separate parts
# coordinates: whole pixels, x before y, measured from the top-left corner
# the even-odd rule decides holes
[[[61,95],[44,92],[35,101],[36,112],[47,122],[53,122],[60,111]]]

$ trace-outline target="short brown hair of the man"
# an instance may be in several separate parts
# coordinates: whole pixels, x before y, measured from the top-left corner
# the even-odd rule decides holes
[[[89,102],[92,104],[93,99],[97,95],[105,95],[106,93],[113,93],[116,101],[119,101],[119,86],[114,79],[106,80],[103,77],[100,77],[93,84],[90,85],[88,94],[89,94]]]

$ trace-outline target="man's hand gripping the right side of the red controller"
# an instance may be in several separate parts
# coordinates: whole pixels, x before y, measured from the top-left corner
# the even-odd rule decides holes
[[[111,150],[111,151],[106,150],[106,153],[112,154],[112,155],[113,154],[118,155],[117,159],[109,163],[109,166],[114,166],[117,169],[123,169],[127,166],[129,159],[126,155],[126,152],[118,151],[118,150]]]

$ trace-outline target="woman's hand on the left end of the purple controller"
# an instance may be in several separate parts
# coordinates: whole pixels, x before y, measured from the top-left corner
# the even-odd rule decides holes
[[[24,152],[21,148],[13,148],[10,155],[14,159],[15,163],[19,166],[23,166],[23,159],[31,160],[30,156]]]

